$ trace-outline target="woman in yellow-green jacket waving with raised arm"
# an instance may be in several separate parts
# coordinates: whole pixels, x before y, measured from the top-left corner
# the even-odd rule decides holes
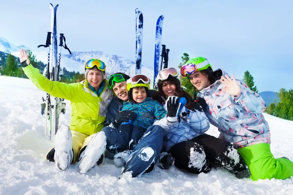
[[[105,79],[104,62],[99,59],[88,60],[85,63],[85,79],[78,83],[66,84],[51,81],[40,74],[39,69],[30,64],[23,49],[20,52],[20,61],[25,75],[39,89],[53,97],[68,99],[71,102],[70,125],[59,126],[54,148],[48,153],[47,159],[55,162],[63,171],[68,169],[70,164],[80,161],[80,173],[86,173],[97,162],[102,163],[105,144],[102,144],[102,148],[94,146],[95,143],[105,140],[104,132],[97,133],[104,126],[106,108],[113,98]]]

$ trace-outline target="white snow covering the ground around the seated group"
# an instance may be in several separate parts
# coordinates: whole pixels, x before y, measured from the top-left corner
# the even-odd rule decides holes
[[[222,168],[208,174],[194,175],[174,166],[162,170],[155,166],[149,174],[118,179],[122,168],[105,159],[86,174],[78,172],[78,165],[60,171],[45,160],[54,140],[44,138],[42,97],[30,80],[0,76],[0,194],[111,194],[111,195],[290,195],[293,177],[285,180],[237,179]],[[70,103],[65,100],[66,113],[60,124],[69,124]],[[272,134],[272,154],[293,159],[293,121],[264,114]],[[208,134],[218,136],[211,126]]]

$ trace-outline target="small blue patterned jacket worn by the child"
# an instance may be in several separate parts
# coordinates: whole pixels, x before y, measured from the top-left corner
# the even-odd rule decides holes
[[[133,122],[133,126],[146,129],[151,126],[155,120],[160,120],[167,115],[167,111],[163,106],[152,98],[146,98],[142,103],[125,101],[121,111],[124,110],[131,110],[137,115]]]

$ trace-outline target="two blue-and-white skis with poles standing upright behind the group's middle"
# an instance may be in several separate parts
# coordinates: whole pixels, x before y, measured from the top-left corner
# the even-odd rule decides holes
[[[135,74],[141,74],[144,18],[143,18],[143,13],[138,8],[135,10],[135,16],[136,16]],[[163,21],[164,21],[164,16],[162,15],[158,18],[157,24],[156,24],[153,88],[155,87],[155,79],[159,71],[162,70],[162,64],[164,63],[164,68],[167,68],[168,66],[168,52],[170,50],[166,49],[166,45],[162,45],[162,50],[161,50]],[[159,67],[160,56],[162,58],[161,58],[161,66]]]

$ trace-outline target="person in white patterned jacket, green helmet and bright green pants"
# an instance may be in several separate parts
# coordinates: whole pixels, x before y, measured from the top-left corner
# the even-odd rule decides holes
[[[206,101],[209,122],[218,127],[220,138],[234,144],[251,171],[251,179],[285,179],[293,176],[293,162],[274,158],[271,134],[262,112],[265,101],[242,81],[223,70],[212,71],[202,57],[189,59],[181,68],[199,91],[197,100]]]

